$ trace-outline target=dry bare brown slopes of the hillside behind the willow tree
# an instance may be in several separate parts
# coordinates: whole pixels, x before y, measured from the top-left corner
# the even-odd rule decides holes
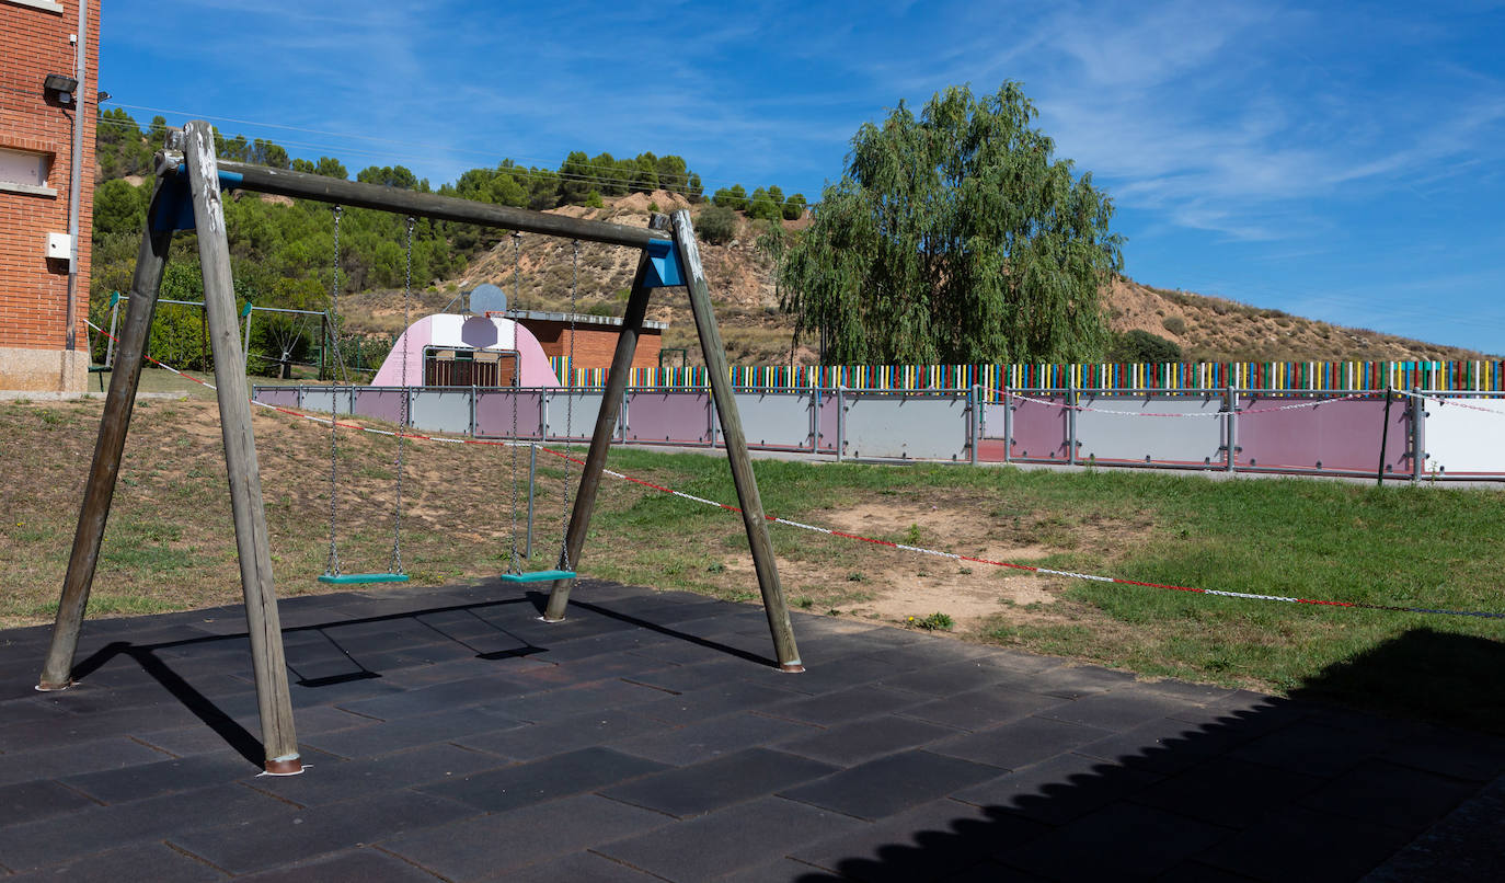
[[[706,203],[691,206],[665,191],[607,200],[602,209],[564,206],[557,214],[646,227],[650,205],[670,212],[689,208],[692,217]],[[756,230],[740,220],[736,239],[725,245],[701,244],[701,259],[712,284],[727,355],[733,364],[789,364],[793,322],[778,311],[772,265],[754,247]],[[807,221],[784,221],[795,230]],[[524,236],[518,257],[521,293],[516,305],[528,310],[569,310],[572,277],[570,244],[546,236]],[[579,313],[620,316],[632,283],[637,257],[625,248],[581,244]],[[435,311],[473,286],[489,281],[512,293],[512,244],[503,242],[470,263],[462,275],[433,286],[420,298],[421,310]],[[1166,290],[1129,278],[1112,283],[1105,296],[1109,325],[1115,332],[1148,331],[1177,343],[1186,361],[1305,361],[1305,360],[1473,360],[1484,354],[1421,340],[1345,328],[1329,322],[1290,316],[1224,298]],[[418,304],[414,305],[420,308]],[[397,292],[366,292],[349,298],[352,326],[393,334],[402,326]],[[700,364],[689,305],[676,292],[659,293],[650,319],[668,322],[665,347],[686,347],[691,364]],[[811,364],[816,352],[801,346],[799,364]]]

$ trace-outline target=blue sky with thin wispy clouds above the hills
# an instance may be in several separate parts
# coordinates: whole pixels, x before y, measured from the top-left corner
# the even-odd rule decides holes
[[[99,75],[352,173],[653,150],[813,200],[900,99],[1019,80],[1133,278],[1505,354],[1505,3],[734,6],[110,0]]]

